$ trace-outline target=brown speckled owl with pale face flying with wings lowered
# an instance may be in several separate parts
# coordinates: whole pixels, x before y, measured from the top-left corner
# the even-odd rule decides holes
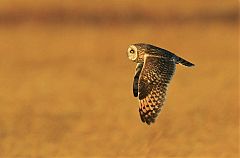
[[[133,95],[139,98],[141,120],[151,124],[163,106],[175,65],[180,63],[190,67],[194,64],[150,44],[130,45],[127,54],[130,60],[137,63]]]

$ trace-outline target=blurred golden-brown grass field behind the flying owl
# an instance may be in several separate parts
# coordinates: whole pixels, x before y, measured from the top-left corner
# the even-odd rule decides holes
[[[238,157],[238,16],[211,17],[211,11],[237,12],[237,2],[95,2],[3,0],[0,157]],[[164,14],[156,23],[144,17],[136,23],[122,18],[117,24],[109,17],[96,23],[34,20],[42,8],[55,4],[93,14],[100,8],[131,17],[135,7],[150,16]],[[16,10],[35,16],[26,20],[29,15]],[[188,20],[166,22],[168,10]],[[202,12],[211,18],[189,18]],[[21,20],[14,15],[9,22],[11,13]],[[151,126],[141,123],[132,95],[135,64],[126,49],[137,42],[158,45],[196,64],[177,66],[164,109]]]

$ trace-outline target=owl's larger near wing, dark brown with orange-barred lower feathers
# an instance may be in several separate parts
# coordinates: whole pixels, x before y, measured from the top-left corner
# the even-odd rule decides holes
[[[158,56],[145,57],[139,78],[139,113],[142,122],[153,123],[165,101],[167,85],[175,71],[175,62]]]

